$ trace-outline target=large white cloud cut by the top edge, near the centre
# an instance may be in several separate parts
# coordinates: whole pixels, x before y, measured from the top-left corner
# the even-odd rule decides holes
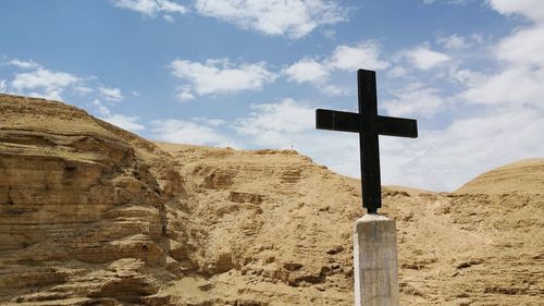
[[[316,27],[345,20],[344,9],[323,0],[197,0],[196,10],[265,35],[300,38]]]

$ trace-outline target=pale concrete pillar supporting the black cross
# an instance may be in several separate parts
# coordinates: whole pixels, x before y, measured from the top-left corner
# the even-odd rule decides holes
[[[356,306],[398,306],[395,221],[366,215],[354,225]]]

